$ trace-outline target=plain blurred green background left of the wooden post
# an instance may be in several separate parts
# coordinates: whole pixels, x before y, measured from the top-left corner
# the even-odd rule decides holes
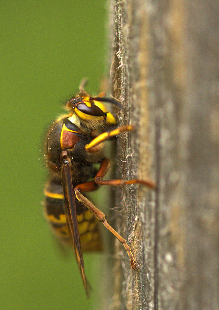
[[[100,309],[102,255],[84,255],[84,294],[73,255],[62,259],[42,214],[39,149],[60,100],[104,74],[105,0],[1,1],[0,309]],[[38,160],[40,158],[40,160]]]

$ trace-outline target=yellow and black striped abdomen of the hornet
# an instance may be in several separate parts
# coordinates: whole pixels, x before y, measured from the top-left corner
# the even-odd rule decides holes
[[[62,243],[71,246],[70,236],[66,224],[66,216],[63,208],[62,185],[50,179],[45,185],[44,214],[54,234]],[[94,215],[78,201],[75,197],[77,210],[78,228],[82,250],[102,250],[102,242],[98,229],[98,220]]]

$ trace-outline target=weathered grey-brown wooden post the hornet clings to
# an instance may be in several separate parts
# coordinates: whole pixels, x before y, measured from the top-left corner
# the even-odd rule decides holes
[[[117,3],[116,3],[117,2]],[[109,2],[112,93],[121,124],[116,241],[105,309],[219,309],[219,2]],[[122,160],[122,162],[121,162]],[[108,275],[109,277],[109,275]]]

